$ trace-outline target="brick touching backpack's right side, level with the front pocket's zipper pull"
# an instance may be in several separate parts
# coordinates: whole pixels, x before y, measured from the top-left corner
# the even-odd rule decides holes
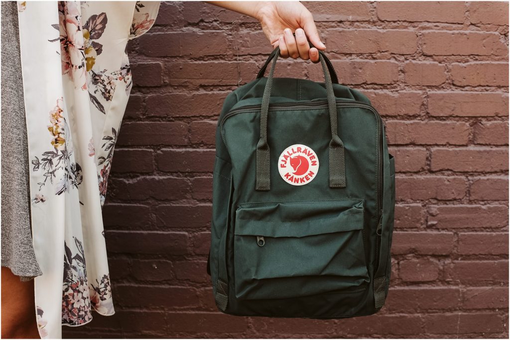
[[[453,233],[394,232],[393,254],[447,255],[453,250]]]

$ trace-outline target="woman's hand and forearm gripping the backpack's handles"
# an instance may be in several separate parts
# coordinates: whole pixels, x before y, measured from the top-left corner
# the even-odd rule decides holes
[[[249,15],[260,21],[262,31],[273,47],[279,46],[283,58],[319,61],[321,42],[312,13],[300,2],[206,1],[212,5]],[[295,33],[295,37],[293,35]],[[310,48],[310,41],[315,47]]]

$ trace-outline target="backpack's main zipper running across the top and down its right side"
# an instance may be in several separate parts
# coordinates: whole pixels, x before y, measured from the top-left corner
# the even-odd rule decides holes
[[[367,103],[364,103],[362,101],[358,100],[349,100],[349,99],[337,99],[337,106],[340,107],[364,107],[368,108],[372,112],[374,112],[374,115],[377,119],[377,131],[379,133],[379,148],[377,150],[377,168],[378,168],[378,177],[377,177],[377,215],[376,215],[376,221],[377,221],[377,227],[375,230],[375,267],[374,267],[374,273],[377,271],[379,266],[379,246],[381,242],[381,235],[382,235],[382,181],[383,179],[383,164],[382,164],[382,126],[384,123],[382,122],[382,118],[377,112],[377,109],[373,107],[372,105],[369,105]],[[340,104],[340,105],[339,105]],[[316,101],[316,102],[301,102],[301,103],[294,103],[294,102],[283,102],[283,103],[273,103],[269,104],[269,110],[277,109],[279,107],[293,107],[293,108],[310,108],[310,107],[317,107],[317,106],[325,106],[327,107],[327,101]],[[220,122],[220,131],[221,131],[221,138],[223,139],[223,143],[226,146],[225,136],[223,135],[223,124],[225,121],[237,114],[243,113],[243,112],[253,112],[254,109],[259,108],[260,109],[261,104],[253,104],[253,105],[245,105],[238,108],[235,108],[231,111],[228,111],[225,116],[223,116],[223,119]],[[257,239],[259,241],[259,239]]]

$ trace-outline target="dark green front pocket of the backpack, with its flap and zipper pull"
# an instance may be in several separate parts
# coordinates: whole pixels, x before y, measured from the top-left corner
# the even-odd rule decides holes
[[[236,211],[236,297],[278,299],[364,289],[364,201],[247,203]]]

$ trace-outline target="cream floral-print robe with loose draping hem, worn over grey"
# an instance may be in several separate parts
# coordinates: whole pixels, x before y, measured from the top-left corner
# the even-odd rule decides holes
[[[39,334],[113,315],[103,219],[132,79],[159,2],[18,2]],[[21,89],[20,89],[21,90]]]

